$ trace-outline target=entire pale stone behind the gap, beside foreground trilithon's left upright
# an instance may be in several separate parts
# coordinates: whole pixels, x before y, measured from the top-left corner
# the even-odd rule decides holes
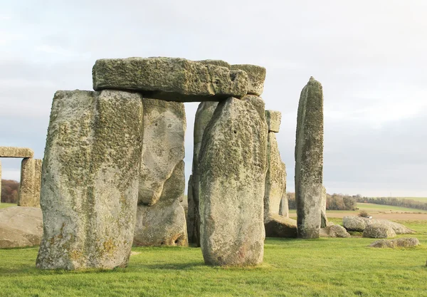
[[[144,136],[134,244],[188,244],[184,208],[184,103],[144,98]]]

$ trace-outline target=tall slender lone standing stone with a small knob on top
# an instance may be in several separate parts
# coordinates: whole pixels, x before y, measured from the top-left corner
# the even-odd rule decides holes
[[[323,91],[314,78],[301,91],[295,143],[298,237],[318,238],[323,182]]]

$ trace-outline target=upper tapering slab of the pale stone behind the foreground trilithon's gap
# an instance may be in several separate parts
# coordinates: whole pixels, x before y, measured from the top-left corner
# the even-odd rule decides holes
[[[155,204],[164,182],[184,159],[184,103],[144,98],[144,139],[138,204]]]

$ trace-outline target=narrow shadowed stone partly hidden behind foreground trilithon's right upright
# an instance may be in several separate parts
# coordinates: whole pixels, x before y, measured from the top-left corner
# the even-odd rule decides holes
[[[189,232],[189,242],[200,246],[200,212],[199,212],[199,152],[204,130],[211,121],[218,102],[202,102],[196,111],[194,120],[194,148],[193,148],[193,174],[191,178],[191,205],[189,196],[189,215],[187,217],[187,228]],[[191,208],[191,211],[190,211]]]

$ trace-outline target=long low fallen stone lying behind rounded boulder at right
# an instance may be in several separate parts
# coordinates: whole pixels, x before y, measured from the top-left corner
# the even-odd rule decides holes
[[[413,234],[414,231],[408,227],[391,222],[387,219],[368,219],[357,216],[347,216],[342,218],[342,225],[349,231],[364,231],[364,229],[371,224],[383,224],[385,226],[391,226],[396,234]]]

